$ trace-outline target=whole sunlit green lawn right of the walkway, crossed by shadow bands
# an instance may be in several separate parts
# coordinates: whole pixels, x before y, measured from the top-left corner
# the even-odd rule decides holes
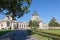
[[[52,35],[52,36],[56,36],[58,37],[60,35],[60,30],[36,30],[36,29],[32,29],[32,31],[37,34],[37,35],[34,35],[34,37],[36,37],[37,39],[40,40],[40,38],[42,38],[42,40],[55,40],[55,39],[52,39],[51,36],[50,37],[46,37],[46,36],[42,36],[42,35],[39,35],[40,33],[42,34],[48,34],[48,35]],[[55,37],[55,38],[56,38]]]

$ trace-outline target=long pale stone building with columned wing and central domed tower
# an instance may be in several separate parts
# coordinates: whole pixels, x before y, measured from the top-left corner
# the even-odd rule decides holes
[[[46,29],[47,25],[42,23],[42,20],[39,18],[39,15],[36,11],[32,14],[31,20],[36,20],[39,22],[39,29]],[[29,29],[28,22],[17,22],[9,15],[5,17],[4,20],[0,20],[0,30],[14,30],[14,29]]]

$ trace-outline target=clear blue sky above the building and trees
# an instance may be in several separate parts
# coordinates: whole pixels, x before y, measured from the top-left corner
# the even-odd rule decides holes
[[[43,23],[48,23],[52,17],[60,22],[60,0],[32,0],[29,8],[30,12],[18,18],[18,22],[28,22],[34,11],[36,11]],[[0,14],[0,19],[4,19],[4,15]]]

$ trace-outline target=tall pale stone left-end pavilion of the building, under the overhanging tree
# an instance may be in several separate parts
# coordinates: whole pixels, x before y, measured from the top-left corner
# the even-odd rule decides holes
[[[17,27],[17,22],[12,20],[9,15],[4,20],[0,20],[0,30],[14,29],[14,27]]]

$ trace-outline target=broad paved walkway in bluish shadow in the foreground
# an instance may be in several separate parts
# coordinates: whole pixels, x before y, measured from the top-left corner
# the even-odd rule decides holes
[[[29,36],[24,30],[16,30],[2,36],[0,40],[36,40],[36,38]]]

